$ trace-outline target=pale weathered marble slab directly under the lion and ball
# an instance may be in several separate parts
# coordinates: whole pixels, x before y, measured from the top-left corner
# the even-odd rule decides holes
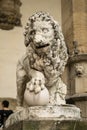
[[[80,109],[72,105],[34,106],[22,108],[6,121],[9,127],[20,121],[76,121],[80,120]]]

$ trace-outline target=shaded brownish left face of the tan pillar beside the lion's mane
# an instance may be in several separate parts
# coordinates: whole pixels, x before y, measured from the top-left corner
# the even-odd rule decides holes
[[[61,0],[62,8],[62,30],[64,38],[71,54],[73,52],[73,14],[72,0]]]

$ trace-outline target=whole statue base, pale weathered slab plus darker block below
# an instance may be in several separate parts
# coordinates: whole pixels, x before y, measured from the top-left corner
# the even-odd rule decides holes
[[[80,119],[80,109],[73,105],[34,106],[12,114],[7,119],[4,129],[74,130]]]

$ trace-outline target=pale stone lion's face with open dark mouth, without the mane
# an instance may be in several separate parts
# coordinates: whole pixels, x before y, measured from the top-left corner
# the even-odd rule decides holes
[[[54,30],[50,22],[36,21],[30,30],[31,46],[37,53],[46,53],[50,50],[54,39]]]

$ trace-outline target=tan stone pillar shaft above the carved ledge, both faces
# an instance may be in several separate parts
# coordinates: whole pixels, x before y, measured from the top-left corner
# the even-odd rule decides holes
[[[65,40],[72,54],[78,42],[79,53],[87,53],[87,1],[86,0],[61,0],[62,27]]]

